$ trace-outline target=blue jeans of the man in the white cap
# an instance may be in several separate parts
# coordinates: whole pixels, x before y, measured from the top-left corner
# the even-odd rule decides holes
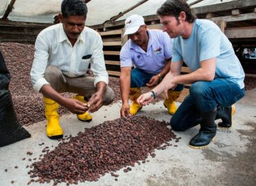
[[[146,83],[149,83],[149,80],[152,76],[156,74],[149,74],[144,70],[140,70],[138,68],[134,68],[131,70],[131,87],[144,87]],[[174,91],[182,91],[184,85],[177,85]]]

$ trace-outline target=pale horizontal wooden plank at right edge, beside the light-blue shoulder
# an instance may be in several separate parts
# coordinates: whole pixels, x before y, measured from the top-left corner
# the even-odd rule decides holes
[[[226,34],[226,37],[228,37],[228,39],[254,38],[256,37],[256,26],[226,28],[225,34]]]

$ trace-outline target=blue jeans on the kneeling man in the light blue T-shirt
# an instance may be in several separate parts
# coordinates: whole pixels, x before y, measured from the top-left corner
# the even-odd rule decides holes
[[[200,123],[201,112],[214,110],[217,106],[230,106],[244,96],[244,89],[227,79],[198,81],[190,87],[190,94],[172,116],[170,125],[173,130],[185,131]]]

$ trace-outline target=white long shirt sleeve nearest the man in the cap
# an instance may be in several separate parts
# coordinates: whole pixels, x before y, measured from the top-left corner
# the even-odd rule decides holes
[[[96,86],[99,81],[104,81],[106,84],[109,83],[109,74],[107,74],[104,61],[103,43],[98,34],[95,39],[95,47],[91,56],[91,70],[94,75],[94,86]]]

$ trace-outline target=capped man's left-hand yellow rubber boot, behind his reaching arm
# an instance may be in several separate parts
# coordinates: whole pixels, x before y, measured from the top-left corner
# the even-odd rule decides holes
[[[141,95],[140,88],[130,88],[130,99],[132,101],[130,105],[130,114],[136,115],[137,112],[143,107],[142,105],[138,104],[137,99]]]

